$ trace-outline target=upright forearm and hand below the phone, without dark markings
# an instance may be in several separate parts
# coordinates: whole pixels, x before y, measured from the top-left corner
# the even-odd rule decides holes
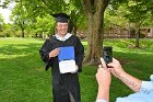
[[[96,80],[98,82],[98,92],[96,102],[109,102],[109,87],[111,81],[111,76],[109,70],[106,67],[106,64],[104,59],[101,59],[102,65],[99,65],[97,73],[96,73]]]

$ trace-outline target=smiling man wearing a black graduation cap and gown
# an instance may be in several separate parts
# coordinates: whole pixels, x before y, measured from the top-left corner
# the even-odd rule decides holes
[[[45,69],[51,68],[54,102],[81,102],[80,83],[78,72],[82,71],[84,47],[81,41],[68,33],[68,20],[64,13],[52,14],[56,18],[56,34],[47,38],[39,53],[45,64]],[[59,47],[73,46],[74,58],[78,70],[74,72],[61,73],[59,70],[58,54]]]

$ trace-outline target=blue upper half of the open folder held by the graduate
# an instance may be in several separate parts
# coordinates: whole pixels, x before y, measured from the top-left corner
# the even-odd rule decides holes
[[[59,61],[61,60],[74,60],[74,47],[73,46],[66,46],[59,47],[60,53],[58,55]]]

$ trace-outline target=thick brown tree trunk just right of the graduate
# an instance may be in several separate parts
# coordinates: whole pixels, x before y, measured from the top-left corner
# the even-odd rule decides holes
[[[98,1],[84,0],[84,1],[86,5],[85,14],[87,16],[87,50],[85,54],[84,63],[89,65],[95,65],[99,63],[99,58],[102,56],[103,36],[104,36],[103,29],[104,11],[108,5],[109,0],[98,0]],[[94,1],[94,3],[92,1]],[[89,10],[89,8],[92,9]]]

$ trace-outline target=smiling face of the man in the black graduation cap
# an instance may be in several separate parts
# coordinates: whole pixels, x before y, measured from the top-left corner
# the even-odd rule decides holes
[[[68,23],[57,22],[57,34],[63,36],[68,33]]]

